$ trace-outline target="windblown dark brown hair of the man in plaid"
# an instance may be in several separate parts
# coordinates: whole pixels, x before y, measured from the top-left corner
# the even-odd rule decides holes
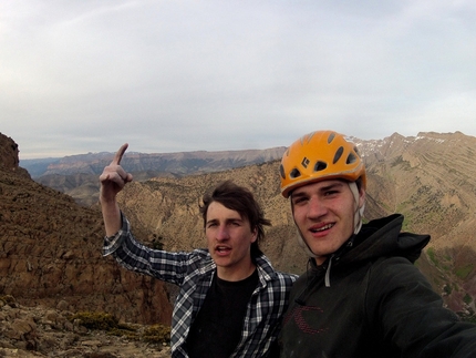
[[[203,201],[204,205],[200,205],[199,208],[204,218],[204,227],[207,224],[208,206],[213,202],[220,203],[226,208],[239,213],[241,218],[248,219],[251,231],[257,231],[257,239],[251,244],[251,256],[261,254],[259,243],[265,238],[263,226],[270,226],[271,222],[265,218],[265,214],[251,191],[231,181],[226,181],[216,186],[211,193],[205,193]]]

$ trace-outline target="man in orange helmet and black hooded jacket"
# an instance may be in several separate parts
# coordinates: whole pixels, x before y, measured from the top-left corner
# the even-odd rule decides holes
[[[354,144],[313,132],[283,154],[309,268],[293,285],[281,357],[476,357],[476,326],[459,321],[413,265],[428,235],[402,233],[403,216],[362,224],[365,167]]]

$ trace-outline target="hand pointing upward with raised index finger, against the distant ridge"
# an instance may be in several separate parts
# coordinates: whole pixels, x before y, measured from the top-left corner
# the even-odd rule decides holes
[[[125,184],[132,182],[133,177],[131,173],[124,171],[121,166],[121,160],[127,150],[128,144],[123,144],[110,165],[104,167],[103,173],[100,175],[101,182],[101,202],[112,202],[118,192],[121,192]]]

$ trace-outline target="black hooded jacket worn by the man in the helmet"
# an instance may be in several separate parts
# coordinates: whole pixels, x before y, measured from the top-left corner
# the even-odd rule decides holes
[[[293,285],[281,358],[476,357],[462,323],[413,265],[428,235],[401,233],[402,215],[372,221]]]

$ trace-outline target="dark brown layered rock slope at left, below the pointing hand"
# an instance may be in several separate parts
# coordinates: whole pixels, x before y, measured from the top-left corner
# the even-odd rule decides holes
[[[101,255],[101,212],[33,182],[18,146],[0,134],[0,295],[25,306],[101,310],[135,323],[169,324],[163,283]]]

